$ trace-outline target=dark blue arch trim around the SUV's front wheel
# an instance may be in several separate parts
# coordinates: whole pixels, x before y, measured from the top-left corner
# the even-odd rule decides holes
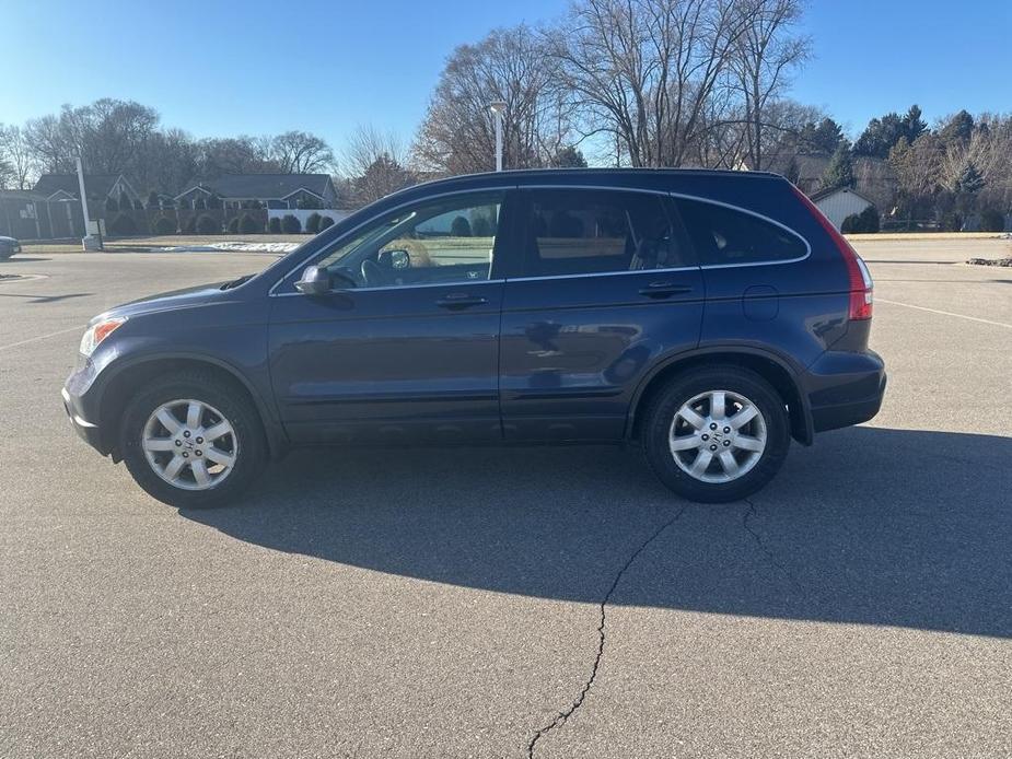
[[[263,396],[229,363],[207,355],[159,354],[139,359],[117,367],[108,377],[98,404],[98,429],[103,431],[104,447],[110,452],[113,460],[120,460],[117,431],[127,404],[146,382],[170,373],[199,371],[210,373],[228,382],[236,392],[253,402],[260,422],[260,429],[267,440],[271,457],[279,457],[288,447],[288,439],[280,424],[274,420],[270,409]]]

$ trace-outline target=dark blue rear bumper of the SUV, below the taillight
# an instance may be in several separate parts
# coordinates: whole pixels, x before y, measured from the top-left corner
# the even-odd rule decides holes
[[[877,353],[829,351],[809,367],[809,404],[815,432],[872,419],[885,396],[885,364]]]

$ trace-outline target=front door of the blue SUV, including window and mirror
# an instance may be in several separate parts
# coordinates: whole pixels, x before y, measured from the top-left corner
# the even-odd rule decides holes
[[[333,290],[274,299],[271,382],[299,443],[501,439],[503,192],[419,201],[337,241]]]

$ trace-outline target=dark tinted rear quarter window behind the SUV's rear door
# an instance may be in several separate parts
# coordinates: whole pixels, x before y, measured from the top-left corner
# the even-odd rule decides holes
[[[677,206],[703,266],[787,261],[809,253],[801,237],[751,213],[682,198]]]

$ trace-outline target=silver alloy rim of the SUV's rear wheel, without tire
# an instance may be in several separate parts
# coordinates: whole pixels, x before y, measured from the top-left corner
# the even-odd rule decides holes
[[[758,407],[731,390],[690,398],[672,420],[671,455],[700,482],[731,482],[752,471],[766,451],[766,420]]]

